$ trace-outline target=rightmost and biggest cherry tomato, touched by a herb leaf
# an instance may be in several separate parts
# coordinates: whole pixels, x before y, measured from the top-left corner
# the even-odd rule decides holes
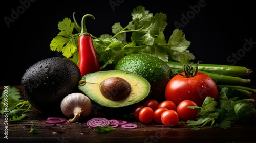
[[[187,106],[197,106],[194,101],[184,100],[177,106],[177,113],[183,120],[195,120],[197,117],[197,109],[190,109]]]

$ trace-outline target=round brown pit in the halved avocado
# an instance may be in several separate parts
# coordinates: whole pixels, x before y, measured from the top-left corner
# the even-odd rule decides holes
[[[129,82],[120,77],[111,77],[105,79],[100,84],[100,92],[110,100],[121,100],[129,96],[132,90]]]

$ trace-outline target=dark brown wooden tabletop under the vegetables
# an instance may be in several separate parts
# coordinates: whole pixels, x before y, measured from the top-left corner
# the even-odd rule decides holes
[[[20,89],[19,86],[15,86]],[[0,88],[1,93],[3,87]],[[22,93],[22,92],[21,92]],[[23,93],[22,93],[23,96]],[[253,94],[256,99],[256,94]],[[200,130],[191,130],[186,127],[186,122],[180,121],[175,127],[167,127],[160,124],[143,124],[131,115],[121,117],[92,115],[108,119],[117,118],[137,124],[136,129],[122,129],[121,127],[108,133],[99,133],[86,125],[88,118],[74,123],[46,124],[46,114],[31,108],[27,112],[28,117],[16,122],[8,122],[8,139],[4,138],[4,117],[0,120],[0,142],[256,142],[254,136],[256,125],[236,125],[228,129],[203,127]],[[90,117],[92,117],[90,116]],[[56,115],[56,117],[63,117]],[[39,134],[29,134],[32,122],[34,129],[41,131]]]

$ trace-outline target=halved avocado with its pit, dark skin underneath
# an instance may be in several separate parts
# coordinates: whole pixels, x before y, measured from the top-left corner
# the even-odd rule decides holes
[[[102,93],[101,91],[101,84],[103,84],[104,81],[113,78],[123,79],[130,84],[131,88],[129,89],[128,87],[127,89],[130,91],[127,91],[129,93],[127,93],[123,99],[110,99],[104,96],[104,92]],[[111,82],[108,83],[111,84]],[[117,83],[117,81],[113,80],[113,83]],[[114,87],[115,85],[117,85],[117,87]],[[124,86],[126,85],[127,84],[124,84]],[[125,91],[121,90],[122,88],[120,88],[120,84],[111,86],[112,87],[108,87],[108,85],[104,85],[104,87],[108,88],[106,89],[107,91],[112,90],[112,94],[113,92],[126,94]],[[151,85],[145,78],[135,73],[121,70],[98,71],[84,75],[79,81],[78,89],[86,94],[86,96],[91,99],[92,103],[96,103],[99,106],[96,112],[132,112],[135,107],[142,104],[151,93]]]

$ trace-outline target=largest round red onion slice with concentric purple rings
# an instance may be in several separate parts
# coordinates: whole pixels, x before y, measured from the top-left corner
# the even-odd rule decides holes
[[[91,118],[86,123],[86,125],[88,127],[97,127],[97,126],[105,127],[105,126],[108,126],[110,124],[111,123],[108,119],[102,118],[102,117]]]

